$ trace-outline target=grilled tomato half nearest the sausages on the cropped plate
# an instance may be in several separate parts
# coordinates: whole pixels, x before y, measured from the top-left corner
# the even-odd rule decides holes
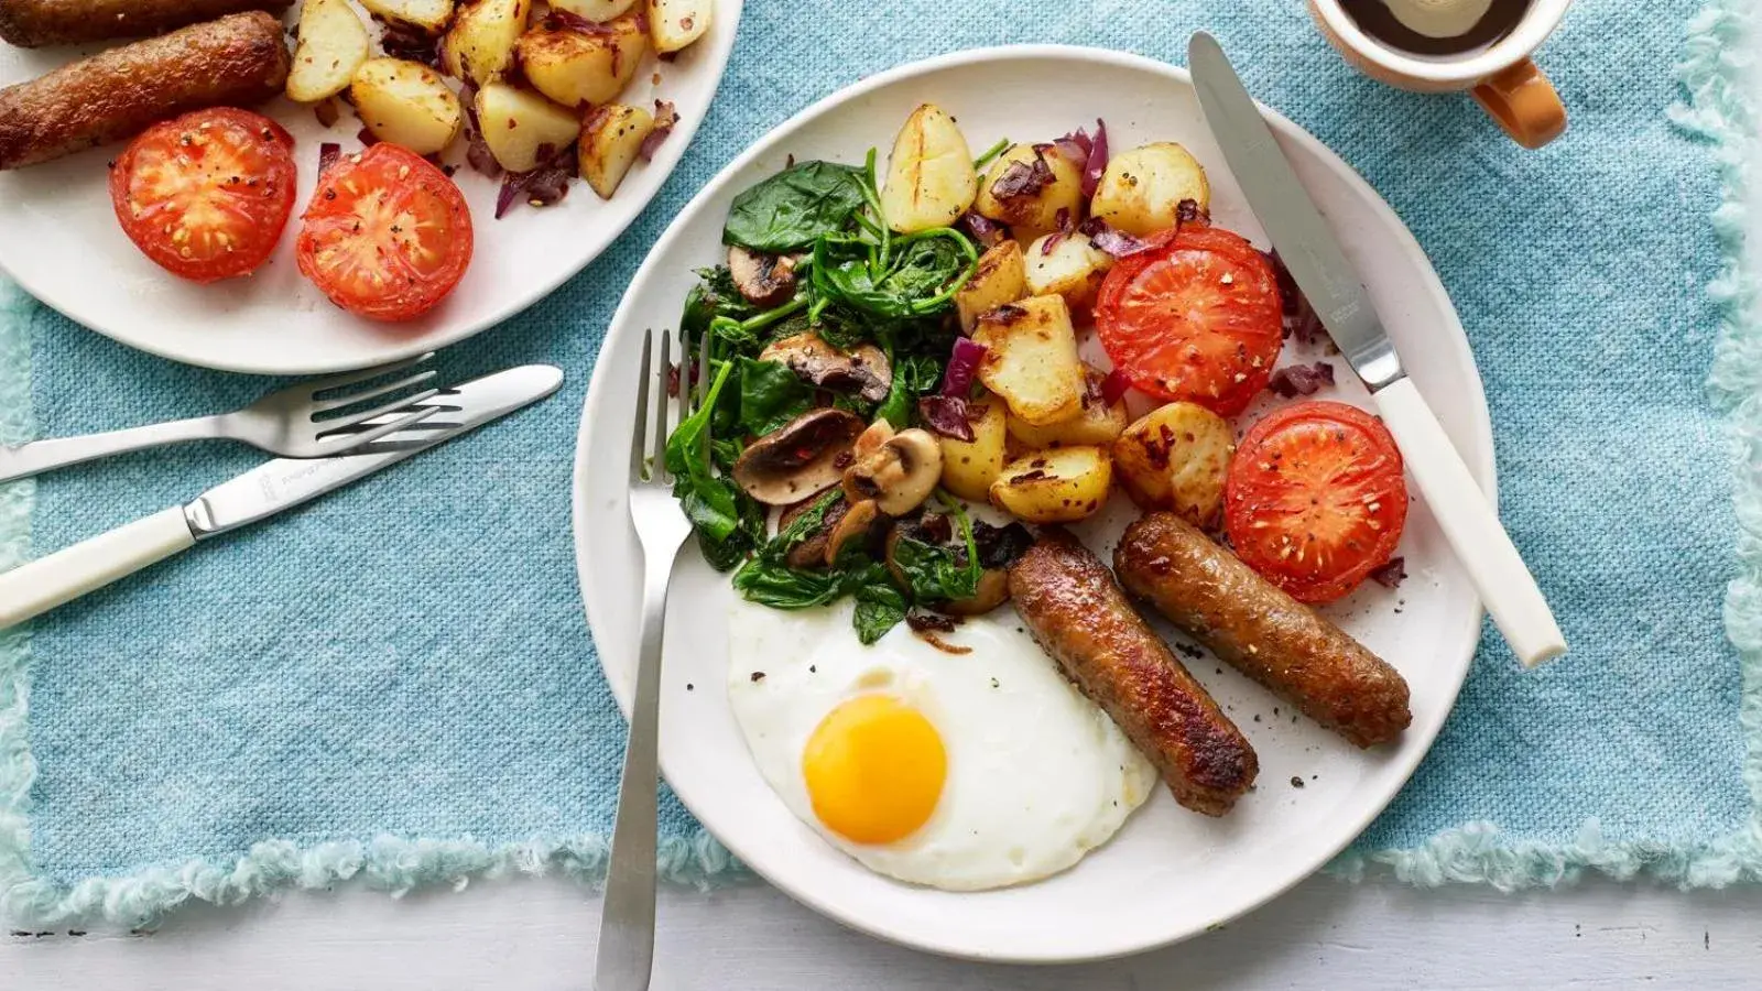
[[[231,108],[155,123],[109,173],[116,219],[166,272],[215,282],[255,272],[294,210],[294,139]]]

